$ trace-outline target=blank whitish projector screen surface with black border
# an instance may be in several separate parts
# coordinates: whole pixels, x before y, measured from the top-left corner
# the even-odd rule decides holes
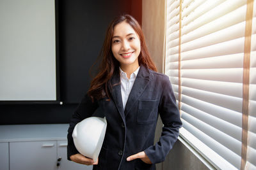
[[[54,4],[0,1],[0,101],[56,101]]]

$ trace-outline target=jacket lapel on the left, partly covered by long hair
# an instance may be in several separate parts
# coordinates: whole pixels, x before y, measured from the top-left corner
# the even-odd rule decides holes
[[[121,93],[120,74],[114,73],[113,77],[110,80],[110,83],[111,83],[113,89],[111,89],[111,87],[109,87],[109,85],[108,85],[108,89],[112,94],[113,101],[116,105],[118,112],[120,113],[123,121],[125,122],[124,106],[123,106],[122,93]]]

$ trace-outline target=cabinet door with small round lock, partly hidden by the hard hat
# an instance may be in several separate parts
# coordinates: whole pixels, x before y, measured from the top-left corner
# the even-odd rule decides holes
[[[82,164],[77,164],[76,162],[72,162],[67,160],[67,140],[66,141],[58,141],[58,166],[59,170],[70,170],[70,169],[83,169],[83,170],[92,170],[92,166],[86,166]]]

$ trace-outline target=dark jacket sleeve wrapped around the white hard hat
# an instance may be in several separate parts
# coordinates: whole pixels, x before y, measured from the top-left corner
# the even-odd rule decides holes
[[[68,128],[68,146],[67,146],[67,159],[70,160],[70,156],[76,153],[79,153],[74,145],[74,141],[72,138],[72,132],[77,123],[84,120],[84,118],[88,118],[92,116],[93,111],[95,111],[98,107],[97,101],[92,103],[92,99],[86,94],[76,111],[74,111],[72,118],[70,120],[69,128]]]

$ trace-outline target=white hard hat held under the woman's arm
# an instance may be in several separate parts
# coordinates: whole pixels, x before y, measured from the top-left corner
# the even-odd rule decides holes
[[[72,137],[79,153],[97,161],[106,133],[106,117],[89,117],[79,122]]]

